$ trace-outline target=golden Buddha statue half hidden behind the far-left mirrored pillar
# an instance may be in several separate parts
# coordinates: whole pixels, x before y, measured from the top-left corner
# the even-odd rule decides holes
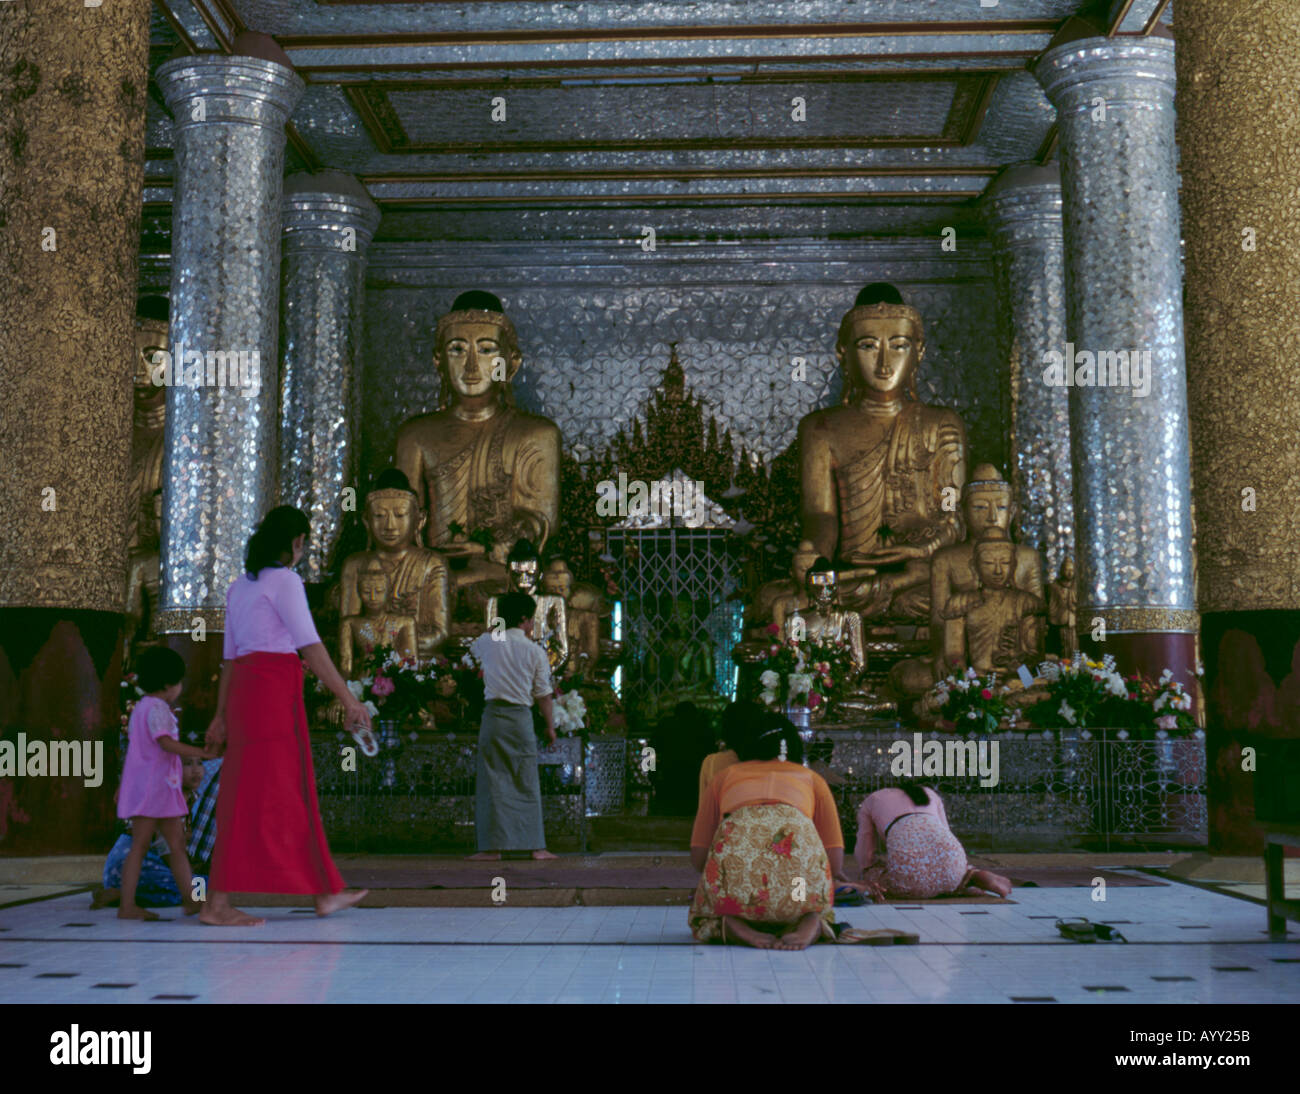
[[[135,318],[134,417],[126,533],[126,642],[148,633],[159,603],[159,543],[162,530],[162,433],[166,387],[153,382],[159,355],[168,350],[168,301],[140,300]]]

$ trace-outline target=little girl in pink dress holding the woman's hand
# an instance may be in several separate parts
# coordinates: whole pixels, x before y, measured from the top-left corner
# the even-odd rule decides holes
[[[172,713],[185,678],[181,655],[174,650],[151,647],[140,655],[136,673],[144,698],[135,704],[127,722],[126,763],[117,791],[117,815],[131,822],[131,850],[122,864],[122,900],[117,917],[157,919],[153,912],[135,904],[140,865],[155,830],[162,833],[170,851],[168,863],[185,913],[194,915],[200,906],[190,894],[190,859],[185,850],[185,816],[188,809],[181,790],[181,757],[207,760],[211,754],[181,743],[181,730]]]

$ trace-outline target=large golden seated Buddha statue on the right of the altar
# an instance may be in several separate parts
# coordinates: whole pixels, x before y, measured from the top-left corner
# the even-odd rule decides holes
[[[840,324],[844,404],[800,422],[803,538],[863,617],[930,617],[930,563],[962,538],[966,426],[916,396],[920,313],[868,285]]]

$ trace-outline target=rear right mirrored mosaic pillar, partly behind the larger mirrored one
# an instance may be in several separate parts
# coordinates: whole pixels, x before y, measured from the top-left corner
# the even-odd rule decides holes
[[[1048,353],[1065,352],[1061,170],[1008,168],[984,192],[997,246],[1011,392],[1010,481],[1020,542],[1043,552],[1046,579],[1074,555],[1070,388],[1044,382]]]

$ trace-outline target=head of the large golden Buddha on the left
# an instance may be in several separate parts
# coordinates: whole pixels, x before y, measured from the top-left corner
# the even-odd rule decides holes
[[[438,320],[434,356],[443,405],[489,407],[512,401],[510,383],[523,364],[515,325],[491,292],[462,292]]]

